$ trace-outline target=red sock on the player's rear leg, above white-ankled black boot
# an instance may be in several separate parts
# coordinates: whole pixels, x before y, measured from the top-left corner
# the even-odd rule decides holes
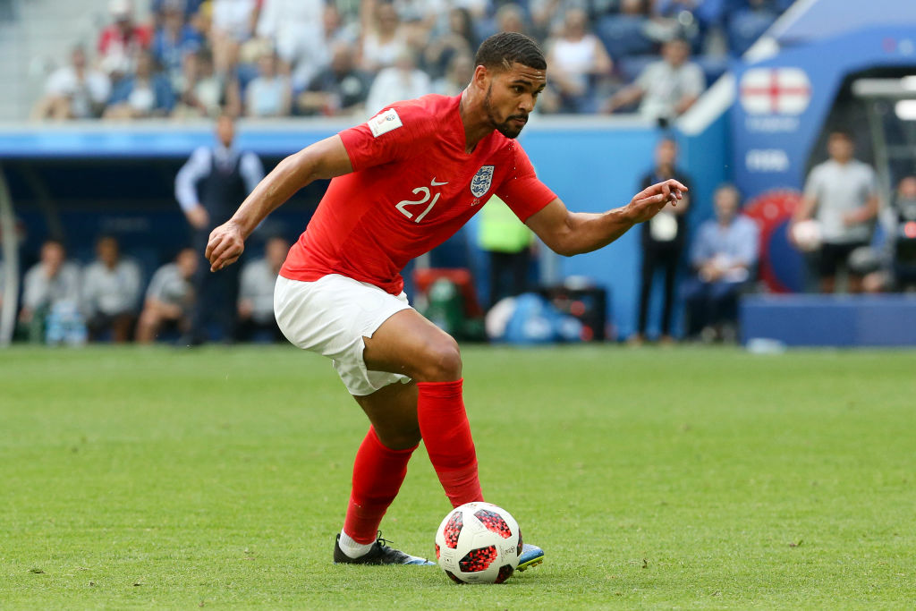
[[[346,510],[344,532],[358,543],[373,543],[378,525],[391,502],[398,496],[407,475],[410,454],[417,449],[392,450],[378,440],[369,427],[356,453],[353,465],[353,488]]]

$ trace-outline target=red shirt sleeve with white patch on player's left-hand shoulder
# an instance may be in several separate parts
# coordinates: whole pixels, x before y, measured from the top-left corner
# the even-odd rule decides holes
[[[434,118],[416,106],[391,106],[363,124],[344,129],[341,140],[354,171],[419,154],[436,134]]]

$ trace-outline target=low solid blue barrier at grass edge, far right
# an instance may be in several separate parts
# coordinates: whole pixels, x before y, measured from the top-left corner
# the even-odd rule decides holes
[[[916,295],[748,295],[738,317],[742,344],[916,345]]]

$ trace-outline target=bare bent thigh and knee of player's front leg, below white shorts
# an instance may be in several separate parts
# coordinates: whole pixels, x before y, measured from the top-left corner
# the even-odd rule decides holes
[[[364,342],[363,359],[369,369],[403,374],[418,382],[462,376],[458,343],[418,311],[398,311]]]

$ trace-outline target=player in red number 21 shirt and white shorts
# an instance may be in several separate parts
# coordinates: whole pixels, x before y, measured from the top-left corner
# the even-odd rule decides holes
[[[541,50],[524,35],[500,33],[480,46],[475,66],[457,96],[391,104],[284,159],[206,248],[213,271],[234,263],[268,213],[312,180],[333,179],[289,250],[274,310],[290,342],[333,359],[371,423],[334,562],[428,563],[376,540],[420,439],[454,507],[484,499],[458,344],[409,306],[401,268],[442,244],[493,194],[570,256],[613,242],[686,191],[665,180],[607,213],[567,211],[514,139],[544,89]],[[525,544],[518,567],[542,559]]]

